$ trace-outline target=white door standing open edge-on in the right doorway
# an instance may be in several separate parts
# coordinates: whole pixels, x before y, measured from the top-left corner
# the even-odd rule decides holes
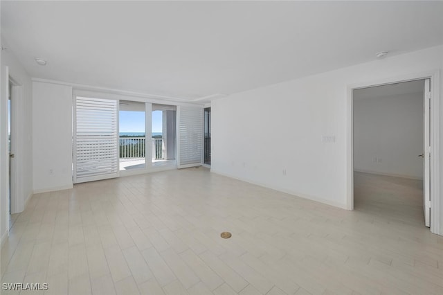
[[[424,147],[423,147],[423,209],[424,209],[424,224],[426,226],[431,226],[431,179],[430,179],[430,115],[429,106],[431,100],[431,80],[424,80],[424,104],[423,104],[423,119],[424,119]]]

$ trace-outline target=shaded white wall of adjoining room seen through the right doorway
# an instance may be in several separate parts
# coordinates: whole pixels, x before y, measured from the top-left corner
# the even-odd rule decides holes
[[[354,91],[354,170],[423,178],[423,93],[359,98]]]

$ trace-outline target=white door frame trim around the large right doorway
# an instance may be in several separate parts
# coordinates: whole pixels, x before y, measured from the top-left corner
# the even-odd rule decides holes
[[[431,232],[442,234],[440,232],[440,71],[438,70],[347,85],[346,208],[348,210],[354,210],[354,106],[352,99],[354,89],[424,79],[431,80]]]

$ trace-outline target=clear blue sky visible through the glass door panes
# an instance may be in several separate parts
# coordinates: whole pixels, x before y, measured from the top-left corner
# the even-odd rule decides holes
[[[120,111],[120,132],[145,132],[144,111]],[[152,132],[161,132],[162,111],[152,111]]]

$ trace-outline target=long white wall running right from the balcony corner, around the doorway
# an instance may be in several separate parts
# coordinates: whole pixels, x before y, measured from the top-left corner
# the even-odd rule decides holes
[[[214,100],[211,169],[345,208],[347,87],[435,69],[443,69],[443,46]]]

